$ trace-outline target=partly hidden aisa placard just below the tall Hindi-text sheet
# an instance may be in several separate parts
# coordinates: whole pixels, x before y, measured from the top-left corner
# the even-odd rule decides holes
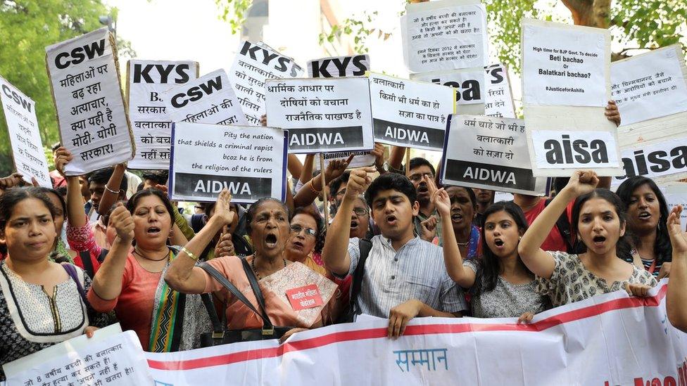
[[[484,115],[486,101],[484,67],[420,72],[410,74],[410,79],[449,86],[455,90],[455,111],[458,114]]]

